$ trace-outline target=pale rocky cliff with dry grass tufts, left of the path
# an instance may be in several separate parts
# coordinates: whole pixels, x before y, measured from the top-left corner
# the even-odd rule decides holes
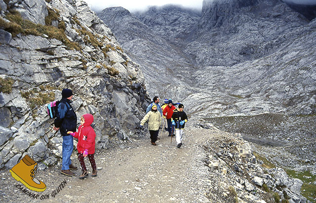
[[[139,66],[81,0],[0,0],[0,168],[26,153],[46,165],[61,157],[45,103],[74,92],[94,115],[97,148],[135,135],[149,102]],[[54,156],[52,156],[54,155]]]

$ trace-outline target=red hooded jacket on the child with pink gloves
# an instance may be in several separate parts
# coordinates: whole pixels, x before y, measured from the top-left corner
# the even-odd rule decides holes
[[[90,126],[93,122],[93,116],[91,114],[84,114],[84,123],[78,128],[78,132],[75,132],[76,138],[78,138],[77,149],[80,154],[85,149],[88,150],[88,154],[94,154],[95,150],[95,132]]]

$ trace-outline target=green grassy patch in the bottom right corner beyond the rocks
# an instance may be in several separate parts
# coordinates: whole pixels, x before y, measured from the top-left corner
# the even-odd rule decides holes
[[[295,171],[286,170],[286,173],[292,178],[298,178],[303,181],[301,188],[301,194],[309,201],[316,202],[316,175],[313,175],[310,171]]]

